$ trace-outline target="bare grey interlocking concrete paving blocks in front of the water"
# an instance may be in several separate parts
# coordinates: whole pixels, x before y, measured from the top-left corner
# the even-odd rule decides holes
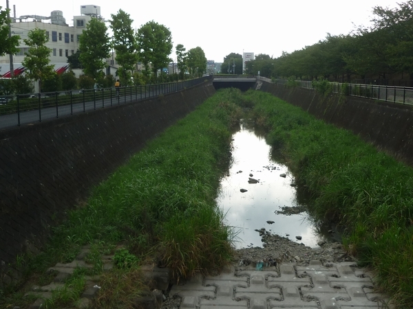
[[[232,266],[221,275],[198,275],[172,286],[170,296],[181,297],[180,308],[388,308],[388,299],[373,288],[370,273],[352,262],[311,261],[308,266],[284,263],[262,271]]]

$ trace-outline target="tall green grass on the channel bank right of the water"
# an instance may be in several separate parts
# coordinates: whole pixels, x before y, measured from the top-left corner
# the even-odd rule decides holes
[[[371,265],[400,308],[413,304],[413,169],[346,130],[268,93],[250,92],[267,141],[312,196],[310,211],[346,227],[346,246]]]

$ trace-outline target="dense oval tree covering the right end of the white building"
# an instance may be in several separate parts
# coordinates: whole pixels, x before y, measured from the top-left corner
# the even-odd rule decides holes
[[[109,57],[110,45],[107,27],[103,21],[92,18],[80,37],[81,55],[79,60],[85,74],[92,78],[103,75],[106,58]]]

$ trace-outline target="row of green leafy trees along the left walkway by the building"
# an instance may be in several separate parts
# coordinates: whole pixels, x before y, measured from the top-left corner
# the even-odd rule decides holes
[[[98,18],[93,18],[80,36],[79,49],[76,54],[69,56],[67,61],[72,68],[81,67],[86,76],[94,80],[94,83],[105,87],[107,80],[103,70],[106,66],[106,59],[109,58],[111,49],[116,54],[116,62],[119,65],[118,76],[121,84],[145,84],[147,82],[157,82],[158,80],[178,80],[178,75],[165,77],[163,68],[172,61],[169,56],[172,52],[172,36],[170,30],[164,25],[155,21],[149,21],[142,25],[139,30],[132,28],[133,20],[129,14],[119,10],[117,14],[111,15],[109,27],[114,36],[109,38],[108,28]],[[8,11],[1,10],[0,7],[0,56],[4,54],[16,54],[19,46],[19,36],[8,37]],[[28,38],[24,39],[25,45],[30,47],[28,54],[22,62],[26,67],[25,75],[31,80],[39,80],[39,87],[43,91],[59,89],[62,78],[56,77],[53,65],[50,65],[50,53],[52,50],[45,46],[47,43],[45,30],[35,29],[28,33]],[[202,75],[207,67],[207,58],[201,47],[195,47],[186,52],[182,44],[176,46],[176,56],[178,57],[178,69],[181,78],[185,73]],[[144,69],[142,75],[136,73],[137,63],[142,62]],[[160,71],[160,76],[158,76]],[[70,78],[72,76],[66,76]],[[64,80],[64,78],[63,78]],[[78,82],[85,83],[79,80]],[[92,83],[92,87],[93,84]],[[66,86],[72,82],[63,82]]]

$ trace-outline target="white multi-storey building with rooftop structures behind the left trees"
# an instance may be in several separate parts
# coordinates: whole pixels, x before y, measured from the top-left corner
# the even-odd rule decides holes
[[[28,38],[28,32],[39,28],[45,30],[49,41],[45,44],[52,49],[50,53],[50,64],[54,65],[55,70],[63,73],[68,67],[67,56],[76,53],[79,47],[79,37],[83,30],[86,29],[87,23],[92,18],[101,19],[100,6],[98,5],[81,5],[81,15],[73,17],[73,26],[67,25],[63,12],[52,11],[50,16],[39,15],[24,15],[16,18],[12,17],[12,34],[20,36],[19,52],[13,56],[14,72],[19,74],[24,71],[21,65],[28,52],[28,46],[23,42],[24,38]],[[107,59],[107,71],[105,73],[116,72],[118,66],[115,64],[112,57]],[[81,73],[76,70],[75,73]],[[5,55],[0,57],[0,76],[10,77],[10,56]]]

